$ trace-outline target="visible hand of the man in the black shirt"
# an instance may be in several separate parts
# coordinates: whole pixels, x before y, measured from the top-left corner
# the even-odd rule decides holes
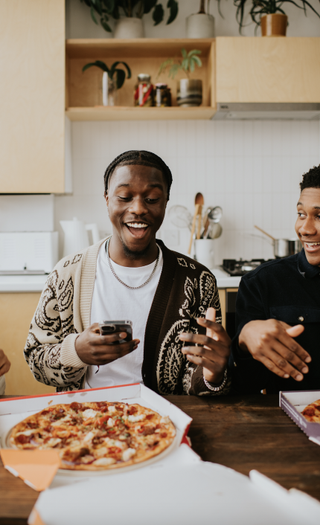
[[[303,374],[309,372],[306,363],[311,357],[293,337],[303,330],[303,325],[289,326],[275,319],[250,321],[240,332],[239,346],[274,374],[302,381]]]

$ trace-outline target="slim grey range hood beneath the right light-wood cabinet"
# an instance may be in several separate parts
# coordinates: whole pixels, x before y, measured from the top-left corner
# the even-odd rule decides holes
[[[212,120],[320,120],[320,103],[217,102]]]

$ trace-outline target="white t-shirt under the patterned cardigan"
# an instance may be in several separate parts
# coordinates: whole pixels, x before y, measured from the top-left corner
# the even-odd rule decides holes
[[[154,266],[155,262],[134,268],[119,266],[112,261],[112,267],[117,276],[129,286],[139,286],[144,283],[152,273]],[[132,321],[133,339],[139,339],[140,343],[136,350],[112,363],[100,367],[89,366],[84,388],[142,382],[141,367],[145,329],[162,266],[163,256],[159,248],[159,262],[152,279],[142,288],[131,290],[114,277],[108,264],[105,244],[101,246],[97,260],[90,324],[106,320],[129,319]]]

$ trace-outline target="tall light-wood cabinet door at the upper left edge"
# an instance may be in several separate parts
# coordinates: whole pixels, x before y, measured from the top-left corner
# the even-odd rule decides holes
[[[0,48],[0,193],[62,193],[64,0],[1,0]]]

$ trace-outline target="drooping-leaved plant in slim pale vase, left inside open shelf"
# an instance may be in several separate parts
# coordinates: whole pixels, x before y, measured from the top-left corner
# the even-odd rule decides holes
[[[120,69],[118,66],[122,64],[126,71]],[[124,81],[127,78],[131,78],[131,69],[126,62],[117,61],[112,64],[109,68],[107,64],[101,60],[90,62],[83,66],[82,71],[86,71],[89,67],[96,66],[102,69],[102,105],[103,106],[116,106],[116,94],[117,90],[120,89]]]

